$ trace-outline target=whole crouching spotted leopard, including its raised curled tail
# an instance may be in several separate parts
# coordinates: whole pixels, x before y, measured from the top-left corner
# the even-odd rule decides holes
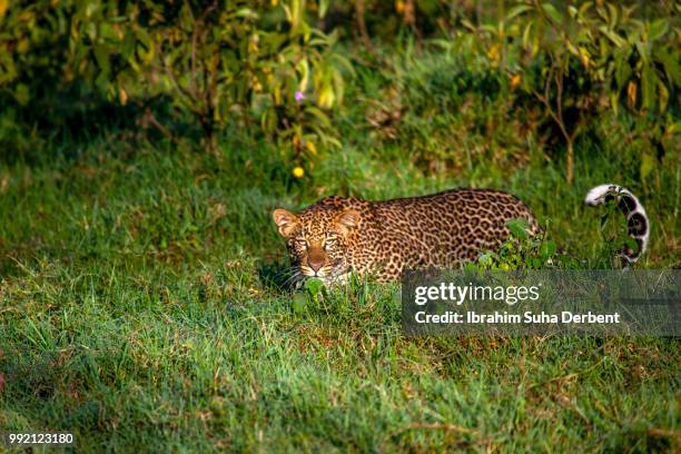
[[[620,250],[631,266],[648,247],[650,221],[639,199],[622,186],[596,186],[584,199],[589,206],[612,200],[638,245]],[[460,188],[379,201],[330,196],[298,214],[277,208],[272,217],[286,241],[290,280],[317,278],[327,285],[347,283],[352,275],[388,283],[409,269],[474,261],[482,253],[499,250],[515,219],[525,221],[529,235],[542,233],[525,203],[496,189]]]

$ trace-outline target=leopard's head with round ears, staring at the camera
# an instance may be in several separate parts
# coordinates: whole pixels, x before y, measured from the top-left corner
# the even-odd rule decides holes
[[[293,279],[316,277],[332,284],[345,278],[359,225],[356,210],[313,207],[296,216],[276,209],[272,217],[286,240]]]

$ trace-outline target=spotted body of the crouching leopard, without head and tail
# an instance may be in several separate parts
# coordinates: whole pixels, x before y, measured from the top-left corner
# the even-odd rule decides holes
[[[499,190],[458,189],[368,204],[372,223],[359,228],[355,267],[379,269],[378,277],[386,279],[405,268],[453,266],[494,250],[509,237],[511,219],[524,218],[539,230],[527,206]]]

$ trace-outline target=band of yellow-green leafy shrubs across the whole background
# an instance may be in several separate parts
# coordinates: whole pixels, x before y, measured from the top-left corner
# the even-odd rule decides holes
[[[169,137],[177,132],[159,103],[197,126],[210,149],[220,131],[246,131],[300,166],[340,146],[335,125],[356,70],[388,68],[384,96],[367,102],[369,125],[385,132],[378,139],[427,135],[430,145],[413,151],[417,162],[461,166],[453,149],[465,142],[438,134],[496,134],[494,115],[471,127],[451,121],[453,111],[465,117],[468,93],[478,92],[497,117],[522,124],[499,132],[488,157],[522,164],[516,130],[547,130],[560,138],[572,181],[575,142],[604,115],[638,117],[635,135],[652,134],[658,148],[678,135],[681,32],[673,8],[605,0],[0,0],[0,98],[12,106],[1,114],[0,141],[18,146],[34,130],[17,112],[30,111],[31,120],[53,115],[37,106],[85,83],[110,105],[136,106],[145,125]],[[452,67],[418,68],[409,56],[424,49],[454,56]],[[403,57],[401,68],[392,50]],[[414,99],[418,92],[433,100]],[[451,126],[437,134],[432,122]],[[657,157],[641,155],[645,176]]]

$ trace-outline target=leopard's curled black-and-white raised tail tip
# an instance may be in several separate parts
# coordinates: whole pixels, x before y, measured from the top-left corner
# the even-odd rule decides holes
[[[638,250],[624,246],[620,254],[624,258],[625,266],[636,261],[648,248],[648,239],[650,236],[650,221],[645,214],[645,208],[639,201],[636,196],[631,194],[626,188],[618,185],[600,185],[591,188],[584,201],[586,205],[596,206],[615,200],[620,210],[626,216],[626,231],[629,236],[636,241]]]

